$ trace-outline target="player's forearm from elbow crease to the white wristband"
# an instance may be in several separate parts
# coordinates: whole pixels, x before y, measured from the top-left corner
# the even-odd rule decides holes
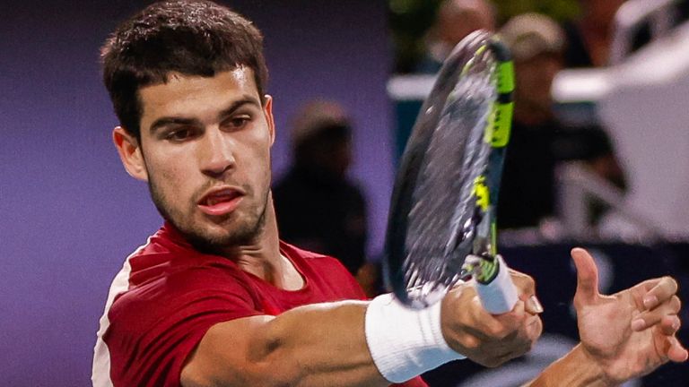
[[[275,372],[274,366],[288,368],[285,371],[296,376],[293,385],[389,385],[366,344],[366,306],[309,305],[281,314],[259,333],[252,360],[263,363],[268,372]]]

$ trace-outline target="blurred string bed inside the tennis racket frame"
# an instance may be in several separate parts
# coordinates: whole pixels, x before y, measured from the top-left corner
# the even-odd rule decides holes
[[[496,97],[494,62],[485,50],[462,69],[432,128],[408,217],[406,283],[420,297],[454,285],[475,232],[474,180],[487,162],[484,129]],[[464,214],[464,215],[463,215]],[[418,259],[419,262],[414,261]],[[423,286],[422,286],[423,284]]]

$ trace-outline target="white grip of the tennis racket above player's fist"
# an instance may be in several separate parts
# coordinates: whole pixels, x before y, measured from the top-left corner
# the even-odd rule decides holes
[[[503,314],[512,310],[519,297],[507,264],[500,255],[496,255],[495,259],[498,261],[498,275],[486,284],[476,282],[475,288],[481,304],[488,313]]]

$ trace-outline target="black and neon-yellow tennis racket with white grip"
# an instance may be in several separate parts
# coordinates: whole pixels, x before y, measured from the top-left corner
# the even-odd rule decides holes
[[[488,312],[517,302],[495,228],[513,90],[509,50],[475,31],[423,102],[397,171],[383,260],[388,288],[408,306],[432,305],[472,277]]]

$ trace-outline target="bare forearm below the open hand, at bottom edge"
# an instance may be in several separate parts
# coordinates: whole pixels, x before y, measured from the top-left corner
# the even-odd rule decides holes
[[[614,387],[616,385],[606,380],[603,369],[586,354],[579,344],[523,387]]]

